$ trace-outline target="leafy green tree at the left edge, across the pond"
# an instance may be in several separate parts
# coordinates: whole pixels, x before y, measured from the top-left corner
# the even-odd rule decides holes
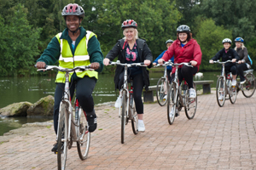
[[[27,9],[18,3],[9,8],[5,19],[0,19],[0,74],[2,76],[26,75],[32,71],[34,57],[39,54],[39,34],[42,29],[32,29],[26,20]],[[5,23],[5,24],[3,24]],[[33,69],[34,70],[34,69]]]

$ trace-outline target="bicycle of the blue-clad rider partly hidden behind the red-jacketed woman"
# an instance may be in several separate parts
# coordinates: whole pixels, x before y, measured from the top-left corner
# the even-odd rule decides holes
[[[166,62],[165,64],[162,65],[162,66],[165,66],[164,76],[160,77],[156,85],[156,99],[160,106],[166,105],[167,99],[165,98],[165,96],[167,96],[167,92],[170,86],[169,80],[167,77],[167,68],[166,68],[167,64],[168,63]],[[154,65],[154,67],[158,67],[158,66],[160,66],[160,64]]]

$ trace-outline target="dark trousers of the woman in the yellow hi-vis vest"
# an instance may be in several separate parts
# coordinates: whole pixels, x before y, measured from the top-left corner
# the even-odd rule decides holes
[[[55,88],[55,105],[54,105],[54,127],[57,134],[59,109],[62,96],[64,94],[65,83],[56,83]],[[76,88],[76,98],[79,100],[79,105],[83,108],[87,115],[94,111],[94,102],[92,92],[96,85],[96,78],[87,77],[71,80],[69,83],[71,99],[73,99],[74,90]]]

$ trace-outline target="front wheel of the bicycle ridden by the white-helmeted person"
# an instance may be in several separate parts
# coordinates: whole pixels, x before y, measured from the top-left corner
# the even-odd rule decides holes
[[[223,94],[223,99],[219,99],[220,94]],[[224,106],[225,103],[225,84],[224,84],[224,77],[218,77],[217,84],[216,84],[216,98],[219,107]]]

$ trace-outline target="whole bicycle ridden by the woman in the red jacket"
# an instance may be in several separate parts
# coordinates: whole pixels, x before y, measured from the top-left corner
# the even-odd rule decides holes
[[[172,65],[176,67],[175,77],[172,80],[172,84],[169,88],[169,93],[167,95],[167,119],[170,125],[174,122],[176,114],[178,115],[178,111],[182,110],[184,107],[186,116],[188,119],[193,119],[195,116],[195,111],[197,108],[197,95],[195,99],[189,98],[189,86],[187,82],[184,82],[181,88],[181,82],[178,81],[178,66],[179,65],[187,65],[193,67],[190,63],[179,63],[174,64],[169,61],[168,65]],[[193,82],[193,88],[196,93],[195,82]],[[177,112],[177,113],[176,113]]]

